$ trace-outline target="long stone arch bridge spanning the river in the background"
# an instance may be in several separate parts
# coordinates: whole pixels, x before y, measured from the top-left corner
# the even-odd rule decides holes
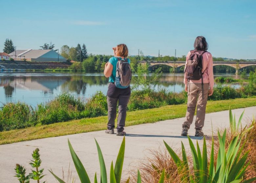
[[[158,62],[158,61],[139,61],[139,63],[141,64],[146,64],[149,63],[150,66],[154,66],[154,65],[168,65],[172,68],[179,68],[182,66],[185,66],[185,61],[163,61],[163,62]],[[213,62],[213,66],[216,65],[226,65],[226,66],[230,66],[236,69],[236,74],[238,73],[239,69],[242,69],[244,67],[247,66],[252,66],[255,65],[256,66],[256,62],[232,62],[232,61],[224,61],[224,62]]]

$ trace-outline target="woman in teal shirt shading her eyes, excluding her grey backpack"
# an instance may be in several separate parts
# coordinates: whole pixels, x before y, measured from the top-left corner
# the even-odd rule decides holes
[[[130,86],[125,89],[117,88],[115,85],[116,69],[118,59],[125,59],[128,56],[128,48],[125,44],[118,44],[114,50],[114,57],[111,57],[105,65],[104,75],[109,77],[109,86],[107,92],[108,103],[108,129],[105,133],[114,134],[115,119],[117,117],[117,136],[126,135],[124,131],[126,108],[131,96]],[[130,59],[128,59],[130,63]],[[118,101],[118,116],[117,116],[117,101]]]

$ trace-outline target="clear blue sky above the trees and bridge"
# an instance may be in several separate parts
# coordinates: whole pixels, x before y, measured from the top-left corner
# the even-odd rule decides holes
[[[214,57],[256,59],[255,0],[23,0],[1,2],[0,51],[6,38],[17,49],[44,43],[112,54],[125,43],[130,55],[177,56],[204,36]]]

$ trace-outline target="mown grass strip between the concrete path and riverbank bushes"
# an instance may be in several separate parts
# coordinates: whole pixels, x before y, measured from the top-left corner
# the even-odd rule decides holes
[[[206,113],[222,110],[256,106],[256,97],[208,101]],[[187,105],[170,105],[160,108],[127,112],[126,126],[154,123],[157,121],[184,117]],[[0,144],[7,144],[33,139],[42,139],[62,135],[104,130],[107,126],[107,116],[84,118],[50,125],[41,125],[25,129],[0,132]]]

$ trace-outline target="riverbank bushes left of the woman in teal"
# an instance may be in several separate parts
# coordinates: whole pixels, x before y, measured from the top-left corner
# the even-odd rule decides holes
[[[22,102],[6,103],[0,109],[0,131],[106,115],[104,101],[106,96],[97,92],[87,103],[67,93],[38,104],[35,109]]]

